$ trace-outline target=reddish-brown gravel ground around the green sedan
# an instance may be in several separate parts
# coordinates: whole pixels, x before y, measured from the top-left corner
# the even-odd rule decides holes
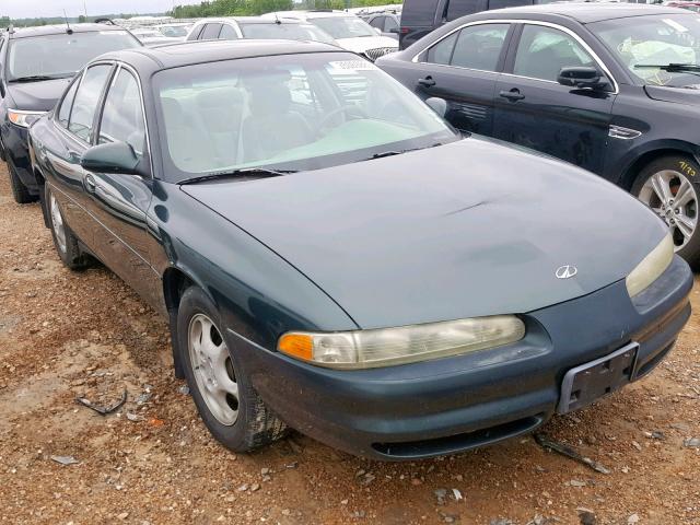
[[[65,269],[2,167],[0,522],[700,524],[699,330],[695,314],[651,376],[544,428],[609,474],[530,436],[407,464],[301,434],[235,455],[174,378],[165,323],[108,270]],[[75,402],[125,389],[107,417]]]

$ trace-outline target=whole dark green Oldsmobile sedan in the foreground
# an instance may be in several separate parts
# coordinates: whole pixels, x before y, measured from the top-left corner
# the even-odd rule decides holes
[[[236,451],[285,424],[383,459],[493,443],[648,374],[690,315],[645,206],[463,139],[334,46],[105,55],[30,141],[60,258],[97,257],[170,317]]]

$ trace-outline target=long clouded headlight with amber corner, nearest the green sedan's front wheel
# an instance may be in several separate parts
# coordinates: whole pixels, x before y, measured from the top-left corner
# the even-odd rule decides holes
[[[476,352],[515,342],[525,325],[494,315],[427,325],[341,332],[284,334],[277,348],[292,358],[331,369],[372,369]]]

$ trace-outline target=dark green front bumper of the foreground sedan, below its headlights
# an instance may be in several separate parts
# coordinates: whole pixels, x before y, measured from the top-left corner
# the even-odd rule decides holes
[[[291,427],[378,459],[456,453],[529,432],[557,409],[567,371],[635,342],[631,381],[673,347],[690,316],[692,273],[675,257],[631,301],[625,281],[523,315],[517,343],[467,355],[335,371],[265,350],[229,331],[262,399]]]

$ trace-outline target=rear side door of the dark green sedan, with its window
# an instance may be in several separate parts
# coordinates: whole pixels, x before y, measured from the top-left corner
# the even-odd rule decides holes
[[[86,212],[86,172],[80,159],[92,142],[96,108],[113,68],[112,62],[91,66],[73,81],[54,118],[60,140],[49,142],[46,151],[51,170],[49,184],[56,189],[54,195],[63,217],[92,250],[96,223]]]

